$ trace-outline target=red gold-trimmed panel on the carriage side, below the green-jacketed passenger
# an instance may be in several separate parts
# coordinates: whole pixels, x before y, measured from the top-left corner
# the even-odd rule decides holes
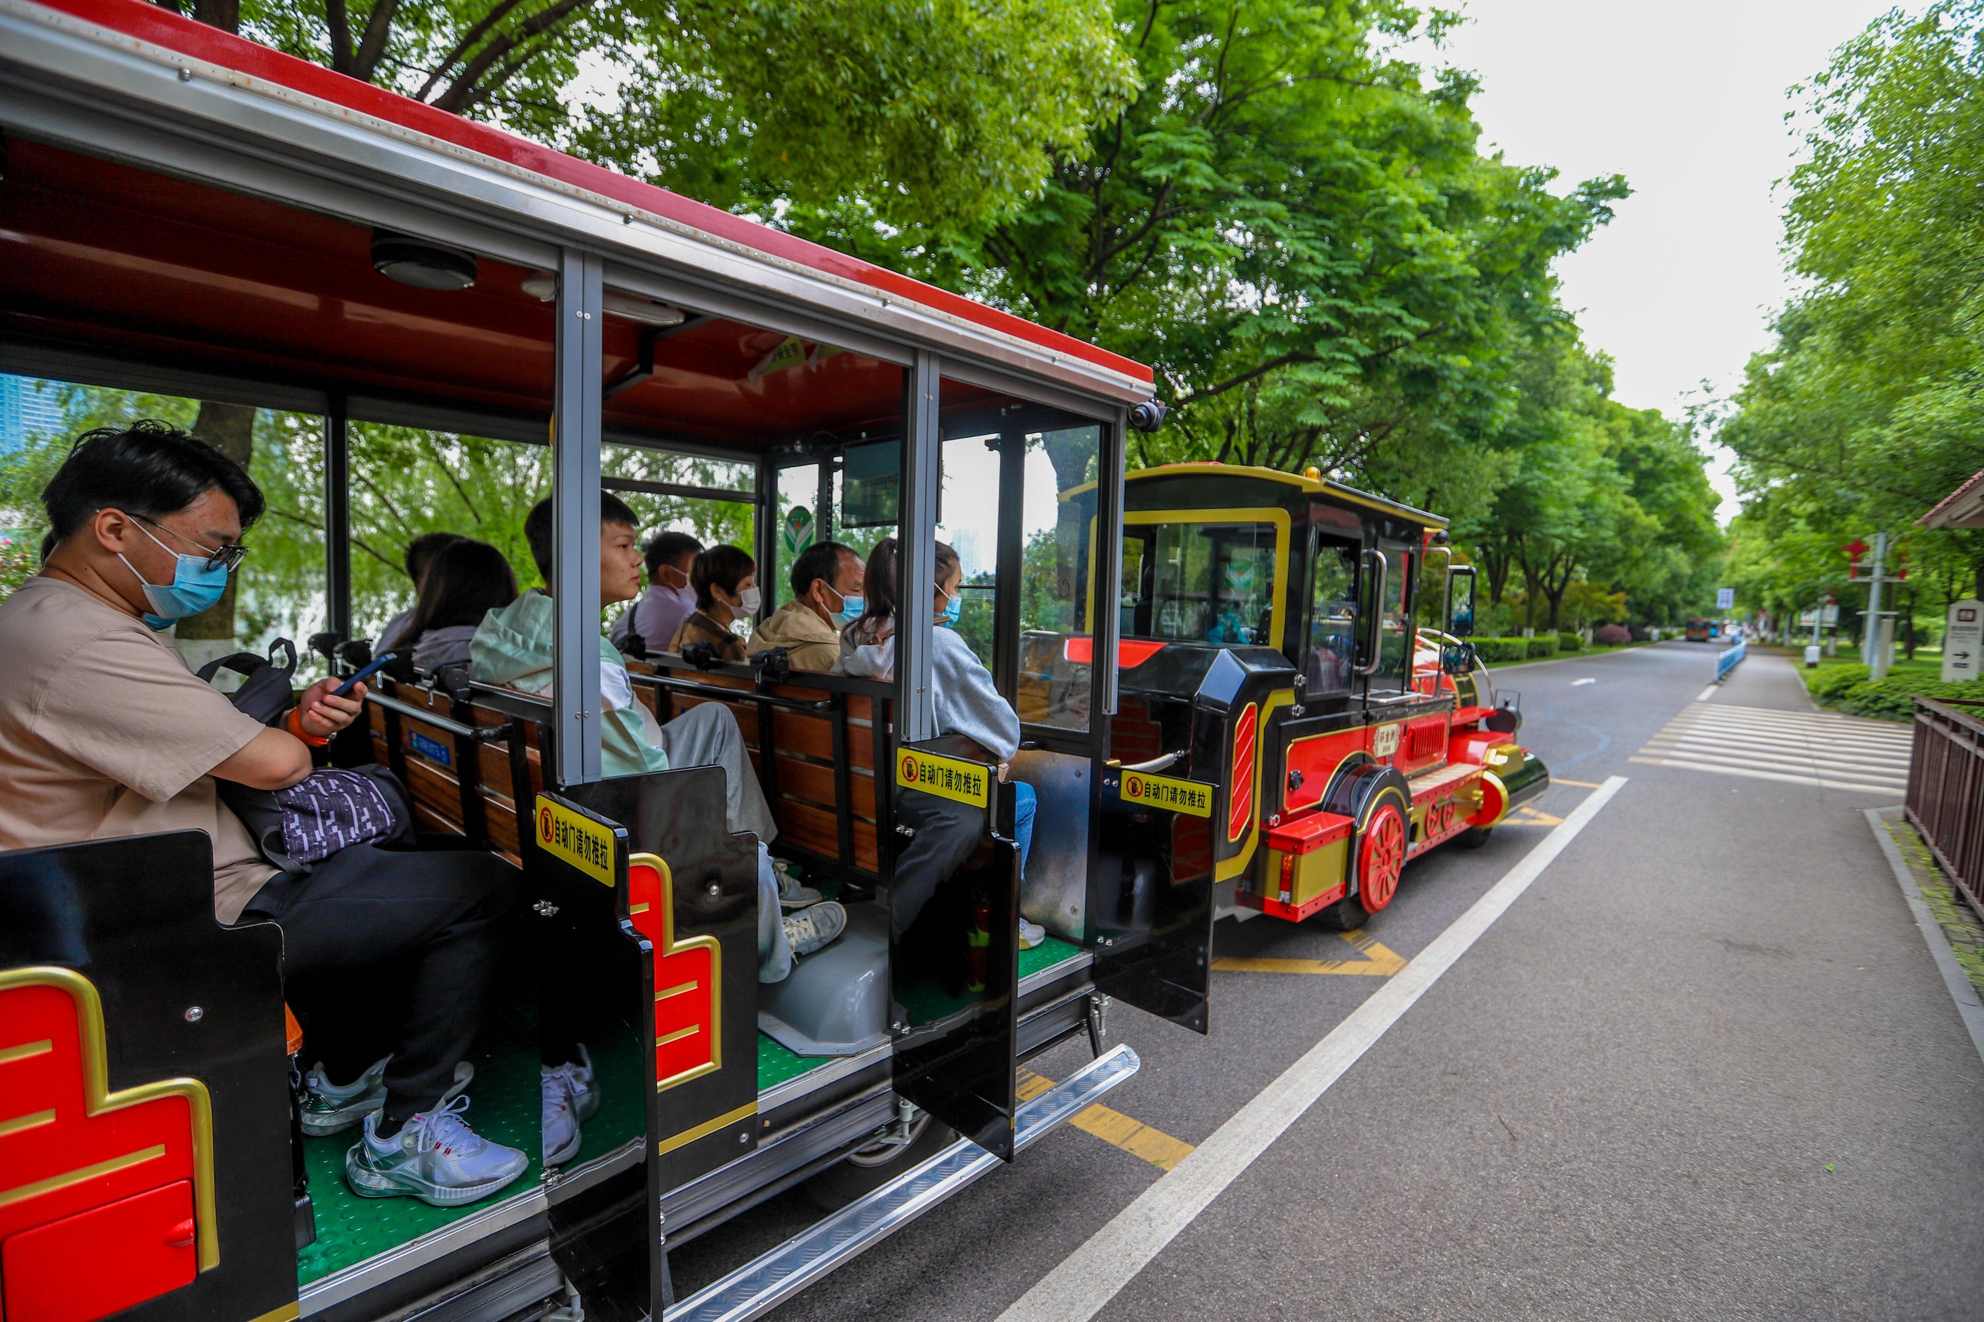
[[[627,860],[627,916],[655,945],[655,1088],[722,1068],[724,953],[712,936],[675,939],[675,882],[655,854]]]

